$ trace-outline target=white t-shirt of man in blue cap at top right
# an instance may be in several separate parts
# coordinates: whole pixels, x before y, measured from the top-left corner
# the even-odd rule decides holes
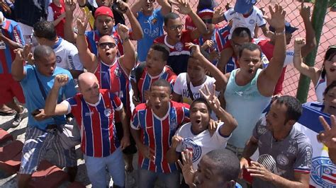
[[[254,37],[254,28],[257,25],[259,28],[266,25],[266,20],[262,18],[262,11],[257,8],[257,6],[253,6],[252,14],[245,18],[242,13],[237,13],[234,8],[230,8],[228,11],[224,13],[225,20],[228,22],[233,20],[233,27],[230,30],[229,39],[231,39],[231,33],[235,28],[245,27],[249,28],[251,31],[252,37]]]

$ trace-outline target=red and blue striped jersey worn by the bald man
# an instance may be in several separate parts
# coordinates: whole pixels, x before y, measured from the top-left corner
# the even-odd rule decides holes
[[[82,152],[95,158],[111,155],[120,146],[114,112],[123,108],[117,95],[103,89],[99,92],[100,99],[96,104],[87,103],[82,94],[67,99],[81,130]]]

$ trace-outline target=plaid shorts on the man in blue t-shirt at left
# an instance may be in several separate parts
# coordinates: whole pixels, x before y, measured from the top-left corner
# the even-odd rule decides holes
[[[53,149],[57,155],[57,166],[62,168],[77,165],[74,148],[65,150],[62,147],[57,135],[57,129],[43,131],[35,127],[27,127],[19,173],[26,175],[33,174],[37,170],[45,153],[50,149]]]

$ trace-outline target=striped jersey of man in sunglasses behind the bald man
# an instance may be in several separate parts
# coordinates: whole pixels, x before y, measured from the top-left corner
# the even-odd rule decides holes
[[[130,80],[128,74],[116,58],[113,64],[104,64],[99,59],[99,64],[94,71],[101,89],[108,89],[111,93],[118,95],[125,106],[125,112],[130,117]],[[118,113],[117,113],[118,114]],[[116,116],[116,122],[120,122],[119,116]]]

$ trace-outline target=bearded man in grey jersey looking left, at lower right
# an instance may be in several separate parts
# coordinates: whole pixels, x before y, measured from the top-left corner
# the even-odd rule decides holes
[[[252,187],[309,187],[311,158],[310,140],[293,125],[301,117],[300,102],[289,95],[277,98],[266,115],[257,122],[250,140],[247,141],[240,168],[247,169],[254,177]],[[271,155],[274,169],[249,159],[259,150],[259,155]]]

